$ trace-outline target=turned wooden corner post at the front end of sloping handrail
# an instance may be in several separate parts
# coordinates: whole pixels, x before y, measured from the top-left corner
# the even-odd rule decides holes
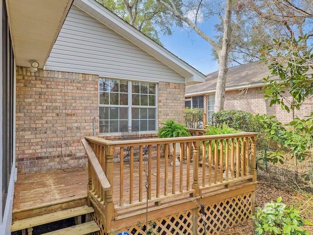
[[[113,156],[115,153],[115,145],[107,145],[106,151],[106,175],[111,188],[105,193],[105,229],[106,233],[110,234],[112,231],[112,220],[114,219],[114,203],[113,203]]]

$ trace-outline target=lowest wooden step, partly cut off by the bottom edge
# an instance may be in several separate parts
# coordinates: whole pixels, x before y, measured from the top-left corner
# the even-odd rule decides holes
[[[99,226],[95,221],[86,222],[79,225],[74,225],[65,229],[56,230],[42,235],[85,235],[100,231]]]

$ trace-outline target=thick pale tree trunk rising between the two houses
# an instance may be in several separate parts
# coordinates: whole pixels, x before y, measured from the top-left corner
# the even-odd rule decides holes
[[[215,92],[215,106],[214,112],[224,110],[224,96],[226,87],[226,76],[228,71],[228,54],[230,47],[230,35],[231,35],[231,0],[225,2],[225,16],[224,16],[224,33],[223,33],[223,45],[219,51],[219,73],[216,83]]]

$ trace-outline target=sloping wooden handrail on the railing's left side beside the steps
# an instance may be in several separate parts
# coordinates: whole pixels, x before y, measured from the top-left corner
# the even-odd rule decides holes
[[[91,146],[89,145],[88,141],[86,141],[85,139],[82,139],[82,143],[83,143],[84,148],[87,152],[89,162],[92,165],[92,168],[94,169],[96,176],[97,176],[97,178],[101,184],[101,187],[105,191],[110,190],[111,185],[107,179],[106,174],[104,173],[103,169],[101,168],[101,165],[99,164],[98,159],[96,158],[94,152],[92,151]]]

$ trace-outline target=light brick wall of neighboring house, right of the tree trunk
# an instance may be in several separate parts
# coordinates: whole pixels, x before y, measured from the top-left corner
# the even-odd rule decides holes
[[[269,107],[269,100],[264,99],[261,87],[249,88],[244,91],[227,91],[225,93],[225,110],[246,110],[253,114],[275,115],[276,119],[282,123],[292,120],[291,113],[281,110],[280,105]],[[300,118],[310,115],[313,112],[313,99],[307,99],[302,105],[301,110],[296,111],[295,115]]]

